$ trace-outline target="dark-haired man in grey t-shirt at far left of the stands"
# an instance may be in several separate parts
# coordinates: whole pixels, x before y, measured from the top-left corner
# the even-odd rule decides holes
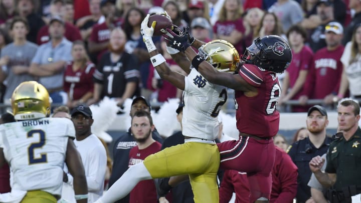
[[[29,67],[38,50],[36,44],[26,39],[29,25],[25,18],[13,18],[10,32],[14,42],[7,45],[0,55],[0,83],[4,82],[7,86],[4,94],[6,104],[10,104],[13,92],[20,83],[35,80],[35,77],[29,74]]]

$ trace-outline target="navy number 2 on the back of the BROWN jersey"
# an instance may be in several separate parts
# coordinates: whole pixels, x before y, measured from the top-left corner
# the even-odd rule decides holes
[[[34,149],[42,148],[45,145],[45,132],[43,130],[31,130],[28,132],[28,138],[33,137],[34,134],[39,135],[39,142],[33,142],[28,147],[29,164],[45,163],[47,162],[47,154],[41,153],[40,157],[34,157]]]

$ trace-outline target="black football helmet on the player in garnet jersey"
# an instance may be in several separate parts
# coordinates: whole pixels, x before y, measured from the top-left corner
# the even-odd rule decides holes
[[[286,40],[277,35],[268,35],[255,39],[246,49],[242,60],[267,71],[283,73],[291,64],[292,52]]]

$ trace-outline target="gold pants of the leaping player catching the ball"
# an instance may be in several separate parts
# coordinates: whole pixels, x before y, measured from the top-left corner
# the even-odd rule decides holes
[[[152,178],[189,174],[196,203],[219,202],[220,154],[216,144],[178,144],[149,155],[143,163]]]

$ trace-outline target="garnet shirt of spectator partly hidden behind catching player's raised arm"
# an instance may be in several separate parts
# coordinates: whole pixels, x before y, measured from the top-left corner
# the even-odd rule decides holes
[[[176,65],[176,63],[172,59],[166,59],[166,62],[168,64],[168,66]],[[155,69],[154,69],[153,65],[149,65],[149,76],[148,76],[148,80],[147,80],[147,88],[152,91],[156,90],[151,85],[152,79],[154,77],[154,71],[155,71]],[[168,98],[175,98],[176,91],[177,91],[176,87],[166,80],[162,80],[162,82],[163,82],[162,87],[157,89],[158,90],[157,100],[159,102],[165,102],[168,100]]]

